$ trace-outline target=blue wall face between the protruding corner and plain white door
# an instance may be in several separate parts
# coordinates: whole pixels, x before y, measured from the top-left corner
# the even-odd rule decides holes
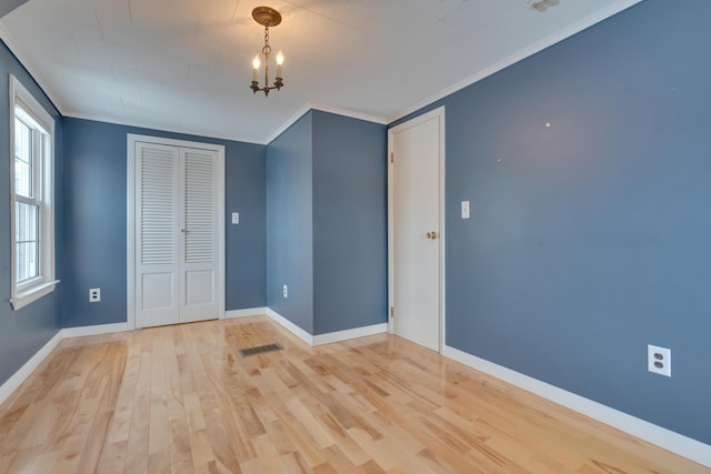
[[[388,130],[313,111],[313,334],[384,323]]]

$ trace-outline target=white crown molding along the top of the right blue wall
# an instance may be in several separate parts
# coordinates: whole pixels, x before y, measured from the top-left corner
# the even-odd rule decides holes
[[[488,78],[489,75],[492,75],[499,71],[501,71],[502,69],[505,69],[510,65],[515,64],[519,61],[524,60],[525,58],[529,58],[533,54],[535,54],[537,52],[540,52],[547,48],[552,47],[555,43],[559,43],[570,37],[572,37],[573,34],[577,34],[579,32],[581,32],[582,30],[592,27],[593,24],[597,24],[603,20],[607,20],[608,18],[623,11],[627,10],[628,8],[641,2],[642,0],[620,0],[611,6],[609,6],[608,8],[604,8],[598,12],[595,12],[595,14],[591,14],[590,17],[587,17],[580,21],[578,21],[577,23],[571,24],[568,28],[564,28],[563,30],[560,30],[547,38],[543,38],[542,40],[539,40],[537,42],[534,42],[533,44],[530,44],[525,48],[523,48],[522,50],[509,56],[508,58],[502,59],[501,61],[491,64],[490,67],[482,69],[481,71],[470,75],[469,78],[462,79],[459,82],[455,82],[454,84],[450,85],[449,88],[430,95],[427,99],[423,99],[421,101],[419,101],[418,103],[404,109],[403,111],[401,111],[400,113],[397,113],[394,115],[392,115],[390,119],[388,119],[388,123],[392,123],[395,122],[400,119],[402,119],[403,117],[409,115],[410,113],[417,112],[418,110],[437,102],[438,100],[444,99],[448,95],[453,94],[454,92],[458,92],[471,84],[473,84],[474,82],[479,82],[482,79]]]

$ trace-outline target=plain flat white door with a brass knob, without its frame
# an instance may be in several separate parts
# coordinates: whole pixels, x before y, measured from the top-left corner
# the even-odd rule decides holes
[[[433,351],[442,334],[443,109],[390,130],[390,301],[395,334]]]

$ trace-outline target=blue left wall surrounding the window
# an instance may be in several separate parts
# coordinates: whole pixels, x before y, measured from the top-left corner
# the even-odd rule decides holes
[[[54,245],[56,276],[62,273],[62,121],[57,109],[34,83],[20,62],[0,43],[0,384],[12,376],[59,331],[59,300],[63,282],[51,294],[19,311],[10,305],[10,124],[9,74],[13,74],[54,119]]]

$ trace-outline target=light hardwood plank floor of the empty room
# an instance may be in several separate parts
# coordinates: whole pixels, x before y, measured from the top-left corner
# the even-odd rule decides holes
[[[0,406],[19,472],[711,470],[402,339],[311,349],[260,316],[62,341]]]

